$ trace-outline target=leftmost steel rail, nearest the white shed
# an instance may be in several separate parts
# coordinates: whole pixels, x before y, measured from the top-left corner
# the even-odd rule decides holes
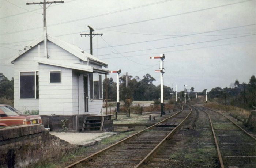
[[[138,135],[138,134],[140,134],[140,133],[142,133],[142,132],[144,132],[144,131],[150,129],[150,128],[152,128],[152,127],[158,125],[159,123],[162,123],[162,122],[164,122],[164,121],[166,121],[166,120],[168,120],[168,119],[174,117],[175,115],[177,115],[177,114],[179,114],[181,111],[183,111],[183,109],[184,109],[184,107],[182,106],[182,109],[181,109],[180,111],[178,111],[176,114],[173,114],[172,116],[170,116],[170,117],[168,117],[168,118],[166,118],[166,119],[163,119],[162,121],[160,121],[160,122],[158,122],[158,123],[156,123],[156,124],[154,124],[154,125],[152,125],[152,126],[150,126],[150,127],[147,127],[146,129],[141,130],[141,131],[139,131],[138,133],[135,133],[135,134],[133,134],[133,135],[131,135],[131,136],[129,136],[129,137],[127,137],[127,138],[121,140],[121,141],[118,141],[118,142],[116,142],[116,143],[114,143],[114,144],[112,144],[112,145],[110,145],[110,146],[108,146],[108,147],[106,147],[106,148],[104,148],[104,149],[101,149],[101,150],[99,150],[98,152],[95,152],[95,153],[91,154],[90,156],[87,156],[87,157],[85,157],[85,158],[83,158],[83,159],[81,159],[81,160],[79,160],[79,161],[76,161],[75,163],[70,164],[70,165],[68,165],[68,166],[65,167],[65,168],[71,168],[71,167],[74,167],[74,166],[75,166],[76,164],[78,164],[78,163],[81,163],[81,162],[83,162],[83,161],[88,161],[88,160],[90,160],[91,158],[93,158],[94,156],[98,155],[99,153],[104,152],[105,150],[108,150],[109,148],[112,148],[113,146],[116,146],[116,145],[120,144],[121,142],[124,142],[124,141],[126,141],[126,140],[128,140],[128,139],[130,139],[130,138],[132,138],[132,137],[135,137],[135,135]]]

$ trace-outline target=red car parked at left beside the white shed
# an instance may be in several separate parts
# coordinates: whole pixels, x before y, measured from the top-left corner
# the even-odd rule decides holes
[[[41,124],[40,115],[25,115],[20,114],[18,110],[9,106],[0,104],[0,127],[10,125],[25,125],[25,124]]]

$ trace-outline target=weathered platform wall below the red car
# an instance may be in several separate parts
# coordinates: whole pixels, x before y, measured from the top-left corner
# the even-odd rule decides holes
[[[50,135],[41,125],[0,129],[0,167],[33,167],[76,150],[75,145]]]

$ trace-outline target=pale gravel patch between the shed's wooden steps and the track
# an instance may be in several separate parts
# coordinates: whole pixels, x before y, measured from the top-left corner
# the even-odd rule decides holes
[[[50,132],[50,134],[55,135],[56,137],[59,137],[60,139],[76,146],[92,146],[98,144],[102,139],[118,133],[90,131],[83,133]]]

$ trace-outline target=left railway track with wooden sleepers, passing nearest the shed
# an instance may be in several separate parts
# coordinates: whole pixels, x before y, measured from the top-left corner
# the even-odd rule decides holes
[[[176,114],[124,140],[116,142],[69,167],[140,167],[151,159],[165,140],[181,126],[192,109],[182,108]]]

